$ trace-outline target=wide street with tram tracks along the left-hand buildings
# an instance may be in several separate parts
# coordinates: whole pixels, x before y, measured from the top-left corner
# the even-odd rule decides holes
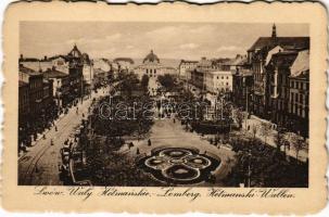
[[[83,113],[88,113],[92,98],[100,98],[107,91],[100,90],[92,93],[92,97],[78,103],[78,114],[76,106],[72,107],[66,115],[55,122],[58,131],[52,127],[46,139],[38,140],[29,151],[18,159],[18,184],[23,186],[62,186],[60,179],[59,165],[61,165],[60,150],[64,141],[73,136],[79,127]],[[53,145],[51,145],[51,139]]]

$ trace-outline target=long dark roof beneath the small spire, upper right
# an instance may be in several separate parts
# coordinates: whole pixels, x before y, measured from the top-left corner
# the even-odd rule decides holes
[[[309,48],[309,37],[276,37],[276,43],[286,48]],[[273,46],[271,37],[260,37],[248,51],[254,51],[264,47]]]

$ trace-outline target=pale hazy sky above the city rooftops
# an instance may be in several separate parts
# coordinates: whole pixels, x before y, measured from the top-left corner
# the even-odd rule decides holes
[[[21,22],[20,52],[26,58],[67,54],[74,44],[90,58],[160,59],[233,58],[258,37],[271,35],[271,23]],[[276,24],[277,36],[308,36],[307,24]]]

